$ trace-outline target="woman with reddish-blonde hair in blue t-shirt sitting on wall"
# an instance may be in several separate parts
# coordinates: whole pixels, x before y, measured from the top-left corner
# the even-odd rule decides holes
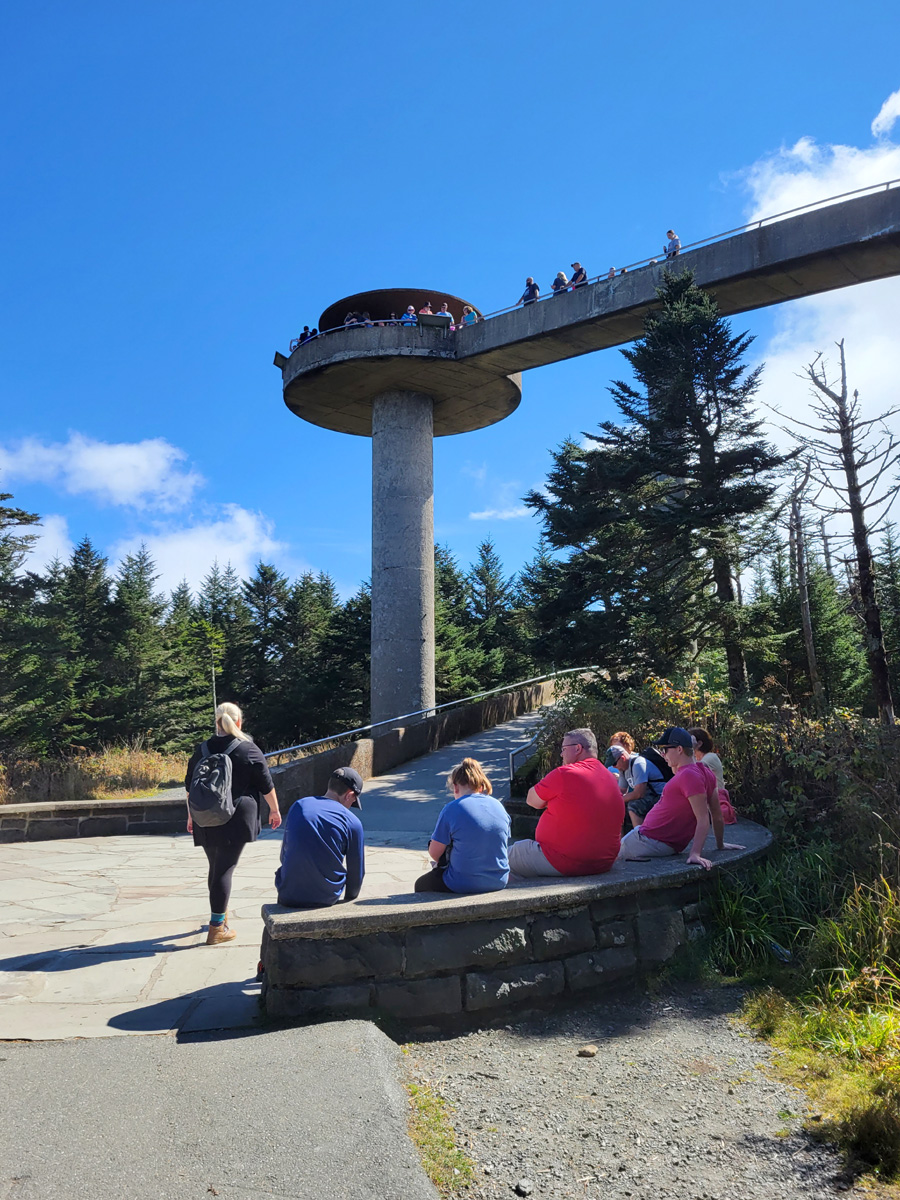
[[[416,892],[499,892],[509,878],[509,816],[481,763],[463,758],[448,775],[454,799],[440,810],[428,842],[434,864]]]

